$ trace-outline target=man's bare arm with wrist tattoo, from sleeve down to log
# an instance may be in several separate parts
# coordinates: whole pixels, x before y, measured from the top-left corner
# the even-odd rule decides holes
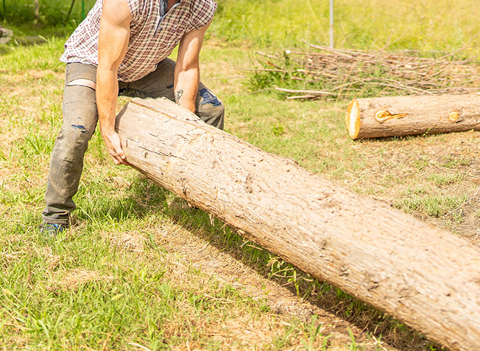
[[[185,34],[178,47],[177,62],[175,65],[175,101],[180,106],[195,113],[198,82],[200,81],[200,49],[206,29],[204,27]]]

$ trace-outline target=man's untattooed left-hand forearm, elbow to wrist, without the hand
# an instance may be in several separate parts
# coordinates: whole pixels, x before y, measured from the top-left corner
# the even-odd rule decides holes
[[[115,130],[115,111],[119,84],[117,73],[101,66],[97,69],[97,109],[102,134]]]

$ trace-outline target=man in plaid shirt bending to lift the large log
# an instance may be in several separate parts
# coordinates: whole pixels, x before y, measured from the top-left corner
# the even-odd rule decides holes
[[[117,96],[167,97],[223,129],[224,106],[200,80],[199,54],[214,0],[97,0],[65,44],[63,125],[51,154],[40,232],[67,228],[88,141],[99,121],[115,165]],[[177,62],[167,56],[180,43]]]

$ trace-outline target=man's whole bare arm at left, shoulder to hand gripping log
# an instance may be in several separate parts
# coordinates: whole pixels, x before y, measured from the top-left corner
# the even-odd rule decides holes
[[[126,0],[104,0],[98,40],[97,109],[101,136],[115,165],[125,162],[120,137],[115,132],[119,93],[117,73],[130,38],[132,16]]]

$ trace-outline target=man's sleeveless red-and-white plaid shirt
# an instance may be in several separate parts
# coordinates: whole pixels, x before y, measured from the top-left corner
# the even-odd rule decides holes
[[[97,0],[86,19],[65,43],[62,62],[82,62],[98,66],[98,34],[102,0]],[[163,16],[163,0],[127,0],[132,22],[127,53],[120,64],[118,78],[133,82],[155,71],[185,33],[204,27],[213,19],[214,0],[180,0]]]

